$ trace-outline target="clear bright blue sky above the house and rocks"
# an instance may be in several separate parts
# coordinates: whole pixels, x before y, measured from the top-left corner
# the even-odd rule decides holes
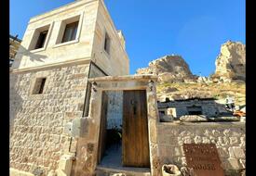
[[[22,39],[30,18],[73,0],[10,0],[10,33]],[[124,32],[130,74],[165,55],[181,55],[208,76],[227,40],[245,44],[245,0],[105,0]]]

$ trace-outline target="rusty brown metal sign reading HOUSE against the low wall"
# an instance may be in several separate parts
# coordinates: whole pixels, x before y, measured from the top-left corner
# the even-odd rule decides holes
[[[183,144],[187,167],[196,176],[224,176],[221,160],[214,144]]]

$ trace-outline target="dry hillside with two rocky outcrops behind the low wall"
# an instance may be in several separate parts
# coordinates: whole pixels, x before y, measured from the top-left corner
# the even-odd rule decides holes
[[[236,105],[245,105],[245,44],[227,41],[222,44],[215,61],[215,73],[209,77],[193,75],[181,56],[165,56],[149,63],[137,74],[155,74],[158,101],[209,98],[225,103],[227,95],[234,96]]]

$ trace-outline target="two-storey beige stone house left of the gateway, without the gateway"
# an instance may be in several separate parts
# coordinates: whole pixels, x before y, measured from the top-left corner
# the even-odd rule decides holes
[[[10,70],[11,175],[47,175],[61,156],[74,156],[83,141],[64,126],[88,115],[88,79],[128,69],[125,38],[102,0],[77,0],[30,19]],[[86,172],[73,166],[75,175]]]

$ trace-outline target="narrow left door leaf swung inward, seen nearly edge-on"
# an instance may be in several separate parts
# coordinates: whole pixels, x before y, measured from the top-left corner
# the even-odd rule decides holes
[[[105,151],[106,144],[106,130],[107,130],[107,107],[108,107],[108,96],[105,92],[102,92],[101,96],[101,124],[100,124],[100,137],[98,147],[98,163],[101,162]]]

